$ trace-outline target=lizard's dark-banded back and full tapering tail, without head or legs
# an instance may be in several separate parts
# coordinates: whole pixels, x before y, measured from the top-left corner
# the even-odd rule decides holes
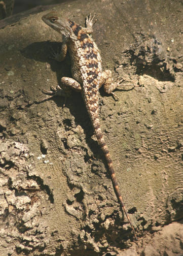
[[[102,71],[101,57],[100,57],[99,51],[97,50],[96,44],[82,30],[80,31],[79,40],[80,40],[80,44],[82,44],[82,47],[83,47],[81,49],[84,50],[83,54],[80,55],[80,71],[81,71],[81,76],[83,81],[83,89],[82,89],[83,98],[84,98],[88,113],[90,115],[90,119],[94,128],[94,132],[97,137],[98,143],[104,152],[108,169],[109,169],[109,172],[111,173],[116,194],[123,208],[123,211],[125,212],[125,215],[127,216],[127,219],[131,225],[131,228],[135,235],[135,239],[137,239],[132,222],[126,211],[122,196],[120,194],[117,179],[115,177],[112,158],[109,155],[107,145],[105,143],[105,140],[102,135],[102,131],[100,129],[100,121],[98,116],[98,109],[99,109],[98,87],[99,87],[99,81],[100,81],[101,71]],[[80,44],[79,44],[79,47],[80,47]],[[87,45],[87,48],[86,48],[86,45]]]

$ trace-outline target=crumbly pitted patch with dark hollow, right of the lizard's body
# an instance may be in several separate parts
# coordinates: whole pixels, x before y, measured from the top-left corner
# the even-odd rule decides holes
[[[174,82],[174,74],[170,73],[169,62],[163,52],[161,42],[158,42],[155,36],[149,39],[149,36],[146,37],[143,34],[137,34],[135,40],[133,48],[124,52],[130,58],[131,66],[135,67],[135,74],[149,75],[158,81]],[[172,61],[173,72],[179,72],[175,67],[176,60]]]

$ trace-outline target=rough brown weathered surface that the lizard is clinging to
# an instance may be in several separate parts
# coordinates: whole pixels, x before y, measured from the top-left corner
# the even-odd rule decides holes
[[[182,222],[172,222],[183,212],[182,3],[163,5],[95,0],[57,8],[79,24],[97,10],[93,37],[103,67],[123,79],[118,102],[101,90],[100,119],[136,244],[81,95],[73,92],[65,108],[60,98],[35,104],[42,89],[70,76],[68,57],[48,58],[60,36],[41,21],[43,13],[0,30],[5,255],[183,253]]]

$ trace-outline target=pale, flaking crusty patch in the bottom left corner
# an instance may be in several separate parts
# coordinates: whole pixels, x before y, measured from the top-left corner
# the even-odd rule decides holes
[[[45,249],[51,234],[45,216],[52,193],[36,176],[27,145],[9,139],[0,144],[1,255]],[[36,236],[35,236],[36,234]]]

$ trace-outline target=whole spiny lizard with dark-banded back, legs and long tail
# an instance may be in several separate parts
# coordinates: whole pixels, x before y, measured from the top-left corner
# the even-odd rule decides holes
[[[40,102],[48,100],[55,95],[62,95],[66,97],[71,89],[82,93],[82,97],[93,125],[95,136],[104,153],[108,170],[111,173],[117,198],[130,223],[135,239],[137,240],[135,229],[125,208],[119,190],[113,161],[100,128],[98,114],[98,90],[103,85],[106,93],[115,95],[113,91],[120,86],[120,84],[113,81],[111,70],[105,70],[102,72],[100,52],[91,37],[91,33],[93,32],[92,26],[94,23],[94,15],[92,18],[91,15],[86,18],[86,27],[81,27],[76,22],[59,16],[55,11],[44,15],[42,20],[62,35],[61,52],[54,53],[53,58],[62,61],[68,50],[71,59],[72,78],[62,77],[62,88],[57,85],[56,88],[51,86],[52,91],[44,90],[45,93],[50,93],[51,96],[41,100]]]

